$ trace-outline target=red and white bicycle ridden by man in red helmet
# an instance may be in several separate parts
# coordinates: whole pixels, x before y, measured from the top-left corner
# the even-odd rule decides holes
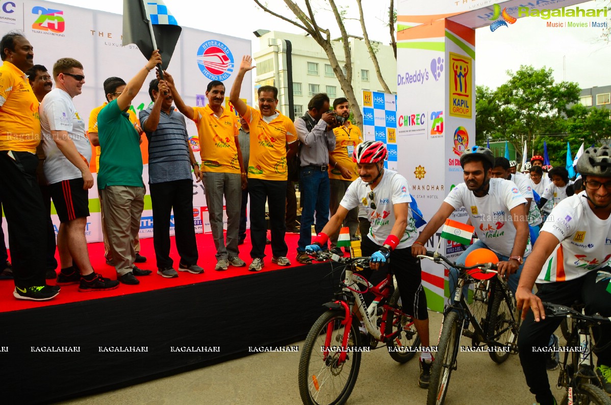
[[[299,393],[307,405],[343,404],[356,384],[362,351],[383,343],[393,360],[405,363],[419,350],[420,338],[412,317],[401,310],[392,274],[373,286],[357,274],[369,266],[369,257],[344,258],[320,252],[316,260],[331,260],[344,270],[333,301],[323,304],[326,311],[305,338],[299,358]],[[366,308],[363,294],[367,292],[375,298]],[[362,341],[354,308],[362,316],[369,341]]]

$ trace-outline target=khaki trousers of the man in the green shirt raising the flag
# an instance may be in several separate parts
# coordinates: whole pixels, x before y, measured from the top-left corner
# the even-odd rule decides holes
[[[117,274],[131,271],[136,260],[134,239],[140,231],[144,210],[144,187],[107,186],[100,189],[104,200],[104,227]]]

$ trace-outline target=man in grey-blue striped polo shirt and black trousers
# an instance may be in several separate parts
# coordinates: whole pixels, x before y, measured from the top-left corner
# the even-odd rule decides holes
[[[172,92],[165,81],[153,79],[148,86],[153,106],[140,112],[142,129],[148,138],[148,183],[153,205],[153,246],[157,274],[178,277],[170,258],[170,213],[174,208],[178,270],[203,273],[197,265],[197,243],[193,227],[193,180],[202,172],[189,147],[184,115],[174,111]]]

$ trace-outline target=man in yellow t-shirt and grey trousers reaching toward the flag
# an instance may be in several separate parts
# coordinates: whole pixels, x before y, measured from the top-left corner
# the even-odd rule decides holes
[[[207,106],[189,107],[178,94],[172,76],[165,72],[164,79],[172,92],[178,111],[197,125],[202,157],[200,170],[216,247],[214,270],[227,270],[229,265],[246,266],[244,260],[238,256],[240,205],[242,189],[247,186],[246,169],[238,140],[238,119],[233,112],[223,108],[225,85],[218,80],[211,81],[206,89]],[[226,241],[223,236],[223,197],[227,212]]]

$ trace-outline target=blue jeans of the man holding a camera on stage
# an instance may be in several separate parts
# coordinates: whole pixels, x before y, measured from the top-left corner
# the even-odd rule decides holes
[[[301,168],[301,230],[299,232],[298,252],[305,252],[305,246],[312,244],[312,224],[316,211],[316,235],[329,222],[329,174],[312,167]],[[323,246],[324,247],[324,246]]]

